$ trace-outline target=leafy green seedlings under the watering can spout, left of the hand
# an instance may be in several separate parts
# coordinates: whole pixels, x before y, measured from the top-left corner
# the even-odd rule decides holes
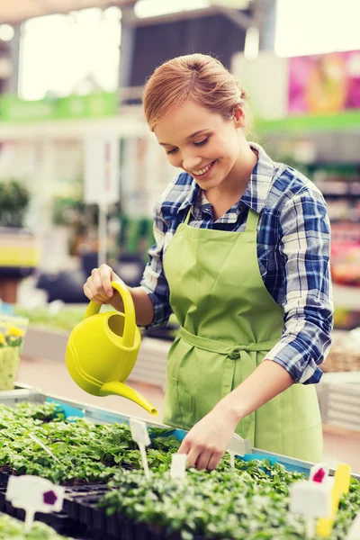
[[[30,434],[40,439],[58,462]],[[171,453],[178,447],[174,437],[154,437],[148,463],[169,465]],[[0,407],[0,469],[77,484],[107,482],[121,466],[142,467],[138,447],[125,424],[93,424],[84,419],[69,422],[54,403]]]

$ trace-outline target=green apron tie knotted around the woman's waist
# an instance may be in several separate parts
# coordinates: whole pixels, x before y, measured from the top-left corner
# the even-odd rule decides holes
[[[187,343],[193,345],[193,347],[198,347],[204,349],[205,351],[211,351],[212,353],[218,353],[219,355],[229,355],[231,358],[238,358],[241,356],[241,351],[264,351],[268,352],[273,347],[275,347],[278,339],[269,339],[268,341],[260,341],[259,343],[248,343],[247,345],[236,345],[232,346],[229,343],[223,343],[222,341],[217,341],[216,339],[202,338],[200,336],[195,336],[188,330],[185,330],[184,327],[180,327],[180,336]]]

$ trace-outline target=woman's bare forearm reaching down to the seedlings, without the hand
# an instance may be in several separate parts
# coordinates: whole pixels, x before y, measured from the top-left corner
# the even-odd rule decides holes
[[[240,421],[292,385],[293,377],[284,367],[265,360],[216,407]]]

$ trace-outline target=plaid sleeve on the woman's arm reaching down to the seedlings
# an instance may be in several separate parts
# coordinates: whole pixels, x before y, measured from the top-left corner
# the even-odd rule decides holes
[[[322,195],[308,190],[294,195],[279,224],[284,332],[266,359],[282,365],[297,383],[319,383],[333,325],[330,225]]]

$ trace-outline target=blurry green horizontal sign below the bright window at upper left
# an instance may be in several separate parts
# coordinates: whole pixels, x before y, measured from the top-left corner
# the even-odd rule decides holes
[[[117,92],[68,95],[58,99],[24,101],[14,94],[0,96],[0,121],[31,122],[41,120],[98,118],[118,112]]]

